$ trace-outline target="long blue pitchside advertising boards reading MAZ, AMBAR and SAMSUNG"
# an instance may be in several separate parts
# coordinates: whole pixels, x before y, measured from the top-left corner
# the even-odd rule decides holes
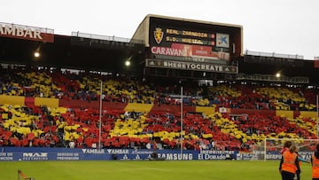
[[[149,160],[153,150],[148,149],[70,149],[2,147],[2,160]],[[234,151],[157,150],[163,160],[227,160],[235,159]]]

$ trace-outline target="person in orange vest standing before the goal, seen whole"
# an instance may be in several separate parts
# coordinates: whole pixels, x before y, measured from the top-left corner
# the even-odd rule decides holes
[[[279,164],[279,171],[282,180],[293,180],[296,171],[300,170],[298,154],[296,153],[297,147],[292,145],[289,151],[284,151],[282,159]]]

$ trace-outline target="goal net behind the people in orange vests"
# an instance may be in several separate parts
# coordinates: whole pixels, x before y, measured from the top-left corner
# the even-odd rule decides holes
[[[290,141],[296,145],[298,153],[305,160],[310,160],[315,152],[318,139],[266,138],[252,149],[251,160],[281,160],[284,143]]]

